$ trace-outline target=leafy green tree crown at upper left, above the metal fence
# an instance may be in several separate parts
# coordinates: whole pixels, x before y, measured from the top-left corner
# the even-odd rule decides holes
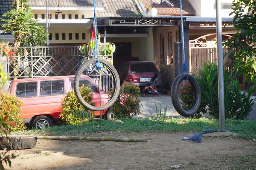
[[[17,4],[18,2],[18,4]],[[44,46],[48,33],[34,20],[27,0],[15,0],[15,8],[3,14],[1,22],[5,32],[15,35],[15,46]]]

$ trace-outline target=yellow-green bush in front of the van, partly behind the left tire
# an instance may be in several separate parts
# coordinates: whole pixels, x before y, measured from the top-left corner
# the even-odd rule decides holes
[[[95,105],[92,102],[93,93],[92,89],[82,85],[80,87],[81,95],[84,96],[84,100],[90,105]],[[62,112],[60,114],[61,119],[70,125],[82,124],[88,122],[90,116],[86,116],[86,113],[91,113],[87,108],[82,106],[75,96],[74,90],[68,92],[62,97]],[[92,113],[91,113],[92,114]]]

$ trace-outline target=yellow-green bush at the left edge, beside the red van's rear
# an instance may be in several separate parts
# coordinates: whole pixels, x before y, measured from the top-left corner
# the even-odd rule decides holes
[[[6,92],[0,92],[0,99],[3,101],[2,107],[3,110],[1,111],[1,116],[5,116],[9,113],[9,121],[14,122],[17,125],[17,128],[12,127],[9,125],[10,131],[18,131],[18,130],[25,130],[26,125],[23,123],[22,119],[22,106],[23,102],[20,100],[19,97],[9,95]],[[10,103],[10,105],[9,105]],[[9,105],[9,111],[6,111],[5,108]]]

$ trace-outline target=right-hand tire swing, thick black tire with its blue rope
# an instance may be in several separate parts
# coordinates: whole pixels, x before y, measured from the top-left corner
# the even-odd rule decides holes
[[[201,90],[198,81],[187,71],[187,64],[185,60],[185,49],[184,49],[184,28],[183,28],[183,16],[182,16],[182,0],[180,0],[180,17],[181,17],[181,38],[182,38],[182,50],[183,50],[183,70],[182,74],[178,75],[172,83],[172,105],[181,116],[189,117],[194,116],[198,111],[201,103]],[[185,72],[185,73],[184,73]],[[179,100],[179,85],[183,80],[187,80],[191,83],[194,91],[194,103],[193,107],[189,111],[185,111]]]

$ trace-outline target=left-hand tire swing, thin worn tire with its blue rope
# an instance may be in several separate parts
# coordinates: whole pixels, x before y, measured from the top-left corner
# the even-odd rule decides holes
[[[118,75],[116,69],[114,68],[113,65],[111,65],[110,62],[108,62],[105,59],[99,59],[98,41],[97,41],[96,0],[93,0],[93,8],[94,8],[93,23],[94,23],[94,35],[95,35],[94,58],[88,59],[86,62],[82,63],[81,66],[76,71],[75,78],[74,78],[74,92],[75,92],[76,98],[81,103],[81,105],[88,108],[90,111],[103,111],[103,110],[110,108],[116,101],[116,99],[119,95],[119,91],[120,91],[120,79],[119,79],[119,75]],[[99,107],[95,107],[95,106],[88,104],[83,99],[83,96],[81,95],[81,92],[79,90],[79,80],[80,80],[79,77],[83,74],[84,69],[89,67],[91,64],[94,64],[98,71],[101,70],[103,67],[102,67],[102,65],[100,65],[100,63],[104,64],[108,68],[108,70],[111,72],[111,74],[113,75],[113,79],[114,79],[113,82],[115,84],[115,88],[113,89],[113,94],[111,96],[111,99],[108,101],[108,103],[106,103],[103,106],[100,105]],[[99,91],[100,91],[100,87],[99,87]]]

